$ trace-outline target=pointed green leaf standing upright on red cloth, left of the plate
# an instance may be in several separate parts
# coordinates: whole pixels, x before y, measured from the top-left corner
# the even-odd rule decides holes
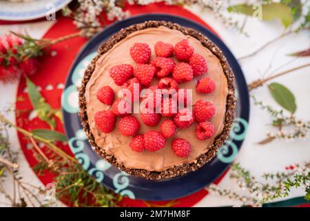
[[[26,78],[26,84],[28,88],[28,95],[34,111],[36,111],[39,119],[48,123],[52,129],[56,126],[56,121],[53,117],[53,110],[50,104],[45,102],[44,97],[37,90],[37,86]]]

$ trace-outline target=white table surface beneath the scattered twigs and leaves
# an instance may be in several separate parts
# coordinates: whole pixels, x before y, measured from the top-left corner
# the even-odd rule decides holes
[[[256,19],[248,19],[245,31],[249,34],[249,37],[245,37],[245,35],[240,35],[240,33],[234,29],[226,28],[220,21],[218,21],[218,19],[216,19],[216,17],[209,12],[200,10],[198,6],[191,6],[188,7],[188,9],[200,16],[212,28],[214,28],[237,58],[249,54],[266,41],[277,37],[284,31],[284,28],[278,21],[262,22],[257,21]],[[44,21],[0,26],[0,35],[5,34],[9,30],[27,30],[32,37],[40,38],[50,26],[52,26],[52,24],[53,21]],[[287,54],[291,52],[304,50],[309,48],[309,46],[309,33],[299,32],[298,34],[289,35],[280,39],[280,41],[277,41],[265,50],[262,50],[258,55],[240,62],[247,82],[262,77],[265,70],[269,68],[271,59],[273,60],[270,64],[271,68],[269,69],[269,74],[273,73],[273,70],[277,70],[284,64],[286,64],[286,66],[278,69],[276,72],[309,63],[309,57],[293,60],[292,57],[287,56]],[[275,80],[279,83],[285,84],[285,86],[293,91],[296,95],[296,103],[298,105],[296,115],[298,118],[305,120],[310,120],[309,70],[309,67],[303,68],[302,70],[297,70],[294,73],[279,77]],[[16,93],[17,83],[3,84],[0,82],[0,110],[3,110],[15,102]],[[273,101],[271,95],[269,95],[266,86],[252,91],[251,94],[258,100],[263,100],[265,104],[271,104],[274,107],[280,108],[280,106]],[[7,117],[14,122],[14,113],[10,113]],[[276,140],[271,144],[264,146],[258,145],[257,142],[262,140],[265,137],[265,133],[269,131],[270,127],[268,124],[270,124],[270,122],[271,119],[269,118],[269,114],[261,111],[251,102],[249,131],[236,162],[239,162],[242,167],[248,169],[251,174],[256,177],[260,177],[262,173],[283,171],[287,165],[304,162],[310,159],[310,139],[296,140],[294,142]],[[16,131],[10,129],[9,133],[12,146],[15,150],[20,151]],[[21,166],[21,175],[23,175],[25,180],[43,186],[37,176],[34,175],[32,169],[30,169],[30,166],[22,153],[19,157],[18,163]],[[260,178],[258,178],[258,181],[259,180]],[[6,182],[6,186],[10,188],[10,181]],[[236,183],[229,179],[229,175],[226,175],[223,178],[219,186],[232,189],[237,188]],[[291,192],[289,198],[300,196],[302,194],[302,189],[294,190]],[[6,202],[3,195],[0,195],[0,202]],[[227,198],[209,194],[203,198],[203,200],[200,200],[195,206],[226,206],[231,204],[234,204],[234,202]]]

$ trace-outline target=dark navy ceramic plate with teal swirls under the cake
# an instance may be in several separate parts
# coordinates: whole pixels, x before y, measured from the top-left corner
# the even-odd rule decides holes
[[[172,21],[179,23],[181,26],[194,28],[202,32],[223,50],[236,77],[236,120],[231,129],[229,139],[220,148],[218,155],[211,162],[205,164],[205,166],[195,172],[158,181],[145,180],[141,177],[134,177],[123,171],[119,171],[115,166],[105,162],[105,160],[94,152],[87,141],[79,120],[78,91],[76,89],[81,84],[85,68],[90,64],[90,61],[96,55],[97,48],[103,41],[121,30],[121,28],[148,20]],[[116,193],[127,195],[133,199],[143,200],[172,200],[180,198],[199,191],[204,186],[214,182],[218,176],[227,170],[227,167],[238,155],[238,151],[245,139],[249,120],[249,93],[247,84],[238,61],[231,54],[229,48],[213,32],[200,26],[195,21],[172,15],[151,14],[130,17],[124,21],[113,23],[96,35],[81,50],[79,55],[76,56],[65,83],[65,90],[61,102],[69,145],[75,157],[83,165],[83,168],[96,177],[98,182],[113,189]]]

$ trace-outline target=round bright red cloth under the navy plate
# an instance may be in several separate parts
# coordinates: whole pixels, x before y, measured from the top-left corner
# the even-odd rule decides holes
[[[196,15],[192,14],[188,10],[181,8],[179,6],[165,6],[164,3],[154,3],[149,6],[129,6],[127,5],[126,8],[130,10],[132,15],[139,15],[142,13],[154,13],[154,12],[161,12],[161,13],[169,13],[174,15],[179,15],[183,17],[187,17],[188,19],[192,19],[203,26],[211,29],[202,19],[197,17]],[[109,23],[109,22],[108,22]],[[57,38],[63,35],[68,35],[70,33],[76,32],[75,26],[72,24],[72,20],[59,17],[57,22],[46,32],[44,38]],[[50,52],[48,52],[42,59],[41,65],[39,67],[38,72],[33,75],[31,78],[34,81],[34,84],[37,86],[41,86],[42,90],[41,93],[43,97],[45,97],[46,101],[52,106],[52,108],[61,108],[61,93],[62,89],[56,89],[56,86],[59,83],[65,83],[65,77],[68,75],[70,66],[74,58],[76,57],[81,47],[85,44],[87,40],[83,37],[76,37],[74,39],[70,39],[69,41],[63,41],[55,46],[52,46],[50,51],[56,51],[56,56],[52,57]],[[53,90],[46,90],[45,86],[52,85],[54,87]],[[48,125],[44,122],[41,122],[37,117],[31,120],[28,120],[28,115],[32,110],[32,106],[30,104],[30,100],[28,98],[27,93],[24,93],[23,90],[25,88],[25,79],[21,79],[19,82],[19,88],[17,90],[17,125],[25,128],[26,130],[32,130],[34,128],[48,128]],[[61,122],[57,120],[56,129],[63,132],[63,125]],[[34,159],[32,155],[32,151],[26,148],[26,144],[28,143],[25,140],[25,137],[18,133],[19,141],[21,144],[21,148],[25,155],[26,160],[28,160],[30,166],[34,166],[37,164],[37,161]],[[65,145],[59,144],[63,148],[63,150],[70,155],[72,155],[70,148]],[[45,148],[43,148],[45,151]],[[45,151],[46,152],[46,151]],[[217,182],[222,178],[218,178]],[[43,184],[48,184],[52,182],[53,175],[50,173],[45,173],[44,175],[40,176],[39,179]],[[174,206],[193,206],[197,202],[199,202],[202,198],[207,195],[207,191],[201,190],[197,193],[189,195],[185,198],[180,198],[175,200]],[[167,204],[167,202],[152,202],[155,204]],[[141,200],[130,200],[124,199],[121,202],[123,206],[145,206],[145,203]]]

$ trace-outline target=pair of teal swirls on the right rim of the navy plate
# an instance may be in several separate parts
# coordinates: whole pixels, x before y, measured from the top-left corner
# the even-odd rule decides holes
[[[234,141],[241,141],[245,139],[247,134],[247,129],[249,127],[248,122],[245,119],[237,117],[234,121],[234,124],[231,127],[229,137],[231,140],[226,140],[225,144],[220,147],[217,157],[218,160],[229,164],[233,162],[238,155],[238,147]]]

